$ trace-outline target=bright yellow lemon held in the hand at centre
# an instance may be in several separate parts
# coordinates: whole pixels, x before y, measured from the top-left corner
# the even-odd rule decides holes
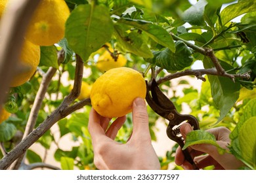
[[[118,67],[96,79],[91,89],[91,104],[107,118],[125,116],[132,110],[135,98],[146,97],[146,82],[136,70]]]

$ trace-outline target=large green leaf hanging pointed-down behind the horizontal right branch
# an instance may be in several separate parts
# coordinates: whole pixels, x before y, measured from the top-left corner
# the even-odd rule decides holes
[[[204,65],[209,68],[211,63],[207,63],[207,59],[205,58]],[[208,60],[209,61],[209,60]],[[223,69],[230,70],[233,69],[232,66],[228,65],[228,63],[222,62]],[[218,122],[223,120],[223,118],[228,114],[230,109],[234,106],[239,97],[240,91],[240,83],[232,82],[230,78],[226,78],[223,76],[208,76],[209,82],[211,84],[211,95],[213,97],[213,101],[216,107],[220,110],[220,116],[218,118]]]

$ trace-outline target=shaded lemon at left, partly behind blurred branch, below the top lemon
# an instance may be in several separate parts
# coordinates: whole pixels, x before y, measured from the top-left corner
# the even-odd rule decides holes
[[[11,87],[16,87],[27,82],[35,73],[40,60],[40,46],[25,40],[22,46],[19,63],[22,65],[21,71],[15,73],[11,82]]]

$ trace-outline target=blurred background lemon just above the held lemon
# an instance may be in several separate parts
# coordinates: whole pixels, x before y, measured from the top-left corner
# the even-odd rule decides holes
[[[125,56],[119,54],[117,59],[115,60],[110,55],[110,52],[108,52],[106,50],[102,54],[102,56],[100,56],[98,58],[98,61],[96,63],[96,67],[100,71],[104,72],[104,71],[108,71],[110,69],[114,69],[114,68],[117,68],[117,67],[123,67],[123,66],[125,66],[126,62],[127,62],[127,59],[125,58]]]

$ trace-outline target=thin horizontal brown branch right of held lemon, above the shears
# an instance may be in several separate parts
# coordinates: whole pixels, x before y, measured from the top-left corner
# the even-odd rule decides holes
[[[215,68],[211,68],[211,69],[195,69],[195,70],[190,70],[187,69],[185,71],[181,71],[181,72],[177,72],[177,73],[173,73],[171,75],[167,75],[164,77],[161,77],[157,83],[161,84],[163,82],[166,82],[168,80],[172,80],[174,78],[179,78],[181,76],[196,76],[198,79],[205,81],[205,78],[203,77],[203,75],[215,75],[215,76],[226,76],[226,77],[230,77],[232,76],[232,78],[248,78],[249,75],[248,73],[245,74],[236,74],[236,75],[230,75],[226,72],[223,73],[223,75],[220,75],[219,71],[217,71]]]

